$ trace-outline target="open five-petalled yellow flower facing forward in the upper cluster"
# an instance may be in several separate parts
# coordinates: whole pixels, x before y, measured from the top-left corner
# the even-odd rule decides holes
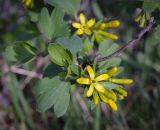
[[[79,15],[79,20],[80,23],[78,22],[73,22],[72,26],[76,29],[78,29],[76,31],[77,35],[82,35],[82,34],[87,34],[87,35],[91,35],[92,34],[92,30],[91,28],[93,27],[93,25],[95,24],[95,19],[91,18],[88,21],[86,20],[86,17],[84,16],[83,13],[80,13]]]

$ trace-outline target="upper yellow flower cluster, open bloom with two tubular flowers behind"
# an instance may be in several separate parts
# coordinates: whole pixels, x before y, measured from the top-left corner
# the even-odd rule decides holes
[[[113,40],[117,40],[118,36],[112,33],[108,33],[105,30],[108,28],[116,28],[120,26],[120,21],[118,20],[111,20],[108,22],[100,22],[96,23],[94,18],[91,18],[87,21],[85,15],[80,13],[79,15],[80,22],[72,22],[72,26],[77,29],[75,32],[77,35],[93,34],[97,42],[102,41],[106,38],[111,38]],[[98,26],[97,26],[98,25]]]

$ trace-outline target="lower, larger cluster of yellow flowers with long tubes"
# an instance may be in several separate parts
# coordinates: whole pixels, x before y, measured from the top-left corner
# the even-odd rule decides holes
[[[119,87],[118,84],[131,84],[133,80],[112,78],[112,76],[118,72],[117,67],[113,67],[98,76],[95,75],[95,71],[91,66],[88,65],[86,69],[89,77],[80,77],[77,79],[77,83],[87,85],[85,88],[86,96],[92,97],[94,104],[98,104],[101,100],[102,102],[108,104],[112,110],[117,111],[117,98],[123,99],[125,96],[127,96],[126,90]],[[112,90],[105,88],[102,84],[102,81],[116,83],[117,87]]]

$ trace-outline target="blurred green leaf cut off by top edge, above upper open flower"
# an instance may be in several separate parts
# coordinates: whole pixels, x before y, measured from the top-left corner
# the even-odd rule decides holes
[[[80,7],[81,0],[48,0],[48,4],[58,7],[64,12],[75,15]]]

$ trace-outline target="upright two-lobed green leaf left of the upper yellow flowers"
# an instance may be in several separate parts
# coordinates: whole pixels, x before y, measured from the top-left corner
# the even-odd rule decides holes
[[[64,12],[55,8],[50,16],[47,8],[41,10],[38,26],[40,31],[48,38],[69,36],[69,28],[64,21]]]

